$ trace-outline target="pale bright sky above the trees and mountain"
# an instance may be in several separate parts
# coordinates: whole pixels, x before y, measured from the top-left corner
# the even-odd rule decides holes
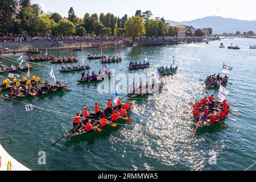
[[[32,0],[47,12],[68,16],[73,7],[75,14],[83,18],[85,13],[113,13],[122,17],[132,16],[136,10],[151,10],[154,17],[183,22],[205,16],[222,16],[241,20],[256,20],[255,0]]]

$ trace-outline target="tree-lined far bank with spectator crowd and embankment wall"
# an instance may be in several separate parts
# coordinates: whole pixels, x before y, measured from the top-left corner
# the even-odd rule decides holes
[[[1,3],[0,14],[3,15],[0,49],[15,52],[32,48],[159,46],[203,42],[205,38],[219,40],[218,36],[212,37],[210,27],[172,26],[164,17],[152,18],[150,10],[137,10],[131,17],[85,13],[84,18],[79,18],[71,7],[68,17],[62,17],[58,13],[44,13],[30,0],[9,0]]]

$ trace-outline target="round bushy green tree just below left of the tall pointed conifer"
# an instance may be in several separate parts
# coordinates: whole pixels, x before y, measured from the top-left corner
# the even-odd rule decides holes
[[[57,25],[57,32],[59,35],[70,36],[75,33],[75,24],[69,20],[61,19]]]

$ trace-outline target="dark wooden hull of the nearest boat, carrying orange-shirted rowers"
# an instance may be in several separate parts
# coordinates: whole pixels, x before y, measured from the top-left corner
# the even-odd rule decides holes
[[[131,106],[133,105],[132,103],[130,103]],[[127,111],[127,116],[129,117],[131,113],[131,109],[129,111]],[[90,116],[88,117],[88,119],[93,119],[94,117],[96,117],[95,114],[90,114]],[[100,120],[100,118],[96,117],[96,120]],[[109,120],[109,119],[108,119]],[[117,124],[121,124],[124,125],[127,123],[127,119],[122,119],[119,118],[118,121],[116,122]],[[84,123],[85,125],[85,123]],[[119,126],[121,126],[119,125]],[[117,126],[118,127],[118,126]],[[96,138],[102,135],[108,135],[110,131],[113,131],[113,129],[115,129],[115,127],[111,126],[111,125],[106,125],[105,127],[101,128],[102,131],[101,133],[99,133],[96,129],[92,130],[92,131],[86,131],[85,129],[81,129],[79,133],[73,133],[73,131],[69,132],[68,134],[65,135],[65,138],[68,138],[69,141],[71,142],[75,142],[79,139],[85,140],[85,139],[92,139],[92,138]]]

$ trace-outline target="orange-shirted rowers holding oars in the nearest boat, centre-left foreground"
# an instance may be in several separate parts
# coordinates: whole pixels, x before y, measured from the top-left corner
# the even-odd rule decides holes
[[[94,105],[94,114],[89,114],[89,106],[86,105],[81,113],[76,114],[73,120],[73,133],[85,133],[94,131],[97,128],[104,128],[110,123],[115,123],[119,118],[127,117],[127,111],[130,110],[131,104],[126,102],[123,104],[121,99],[118,98],[117,105],[112,104],[112,98],[108,101],[106,107],[100,108],[100,101]]]

